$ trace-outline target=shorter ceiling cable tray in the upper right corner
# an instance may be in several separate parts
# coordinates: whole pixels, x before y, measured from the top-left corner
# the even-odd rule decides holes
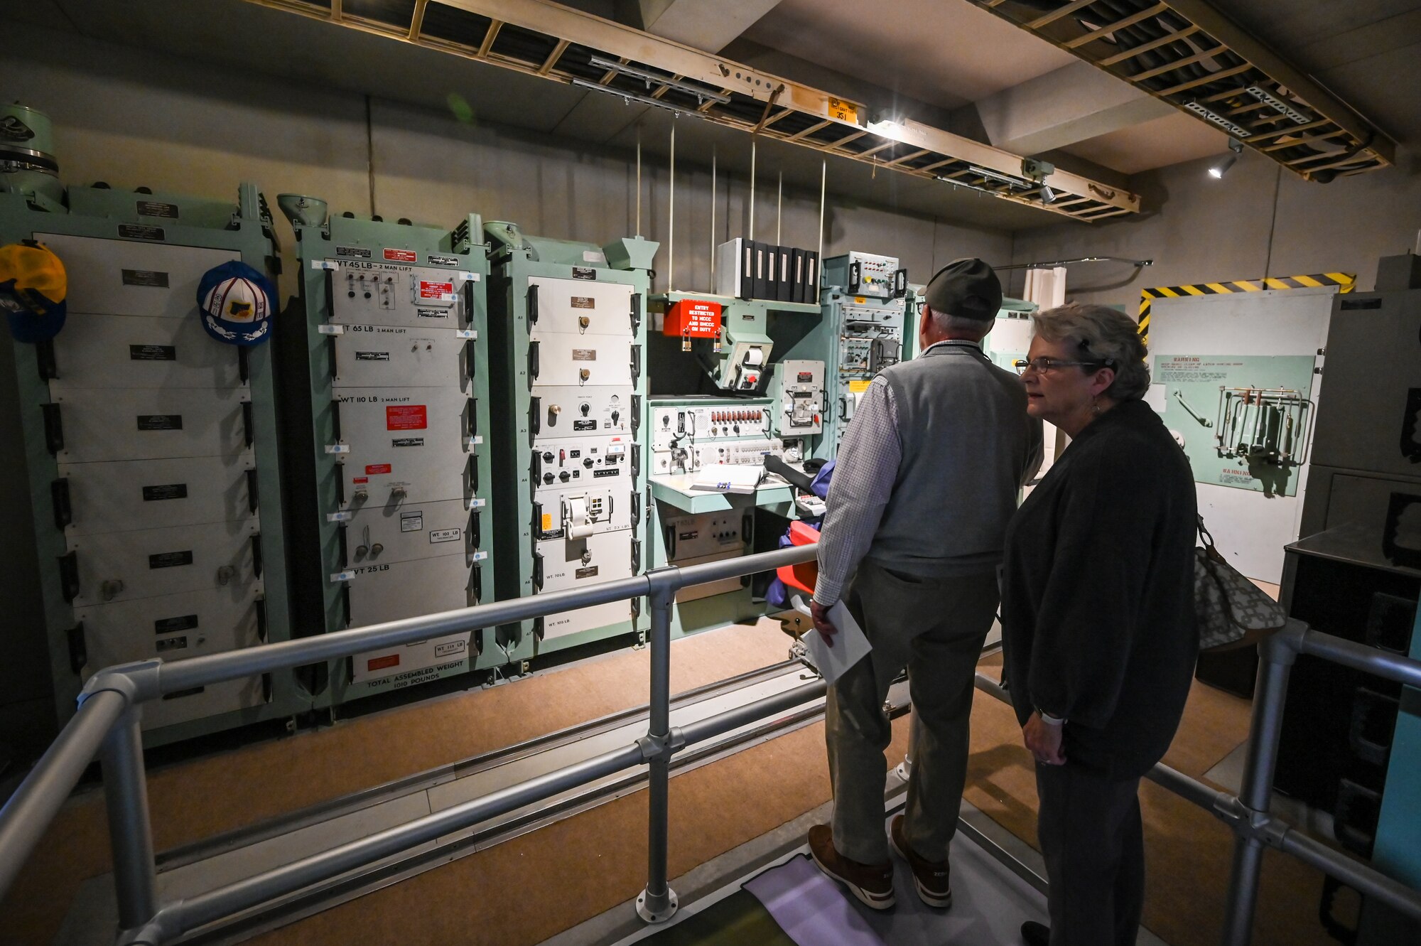
[[[1395,159],[1395,142],[1204,0],[972,3],[1309,180]]]

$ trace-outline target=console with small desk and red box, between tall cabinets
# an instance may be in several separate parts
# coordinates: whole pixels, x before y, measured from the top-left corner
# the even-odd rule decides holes
[[[773,548],[783,520],[799,514],[794,491],[779,479],[755,483],[755,473],[766,455],[791,464],[817,456],[831,351],[818,304],[672,291],[657,295],[652,310],[672,341],[655,349],[654,384],[718,393],[649,401],[651,564],[695,565]],[[695,312],[710,321],[688,322]],[[725,467],[736,469],[722,476]],[[729,578],[679,591],[671,628],[695,634],[759,618],[766,608],[762,584]]]

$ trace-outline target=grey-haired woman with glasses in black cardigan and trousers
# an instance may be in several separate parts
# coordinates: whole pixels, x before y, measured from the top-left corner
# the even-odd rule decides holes
[[[1050,929],[1029,946],[1125,946],[1144,902],[1140,777],[1184,713],[1194,626],[1195,494],[1184,452],[1142,398],[1127,315],[1063,305],[1034,318],[1026,411],[1070,446],[1006,533],[1006,679],[1036,759]]]

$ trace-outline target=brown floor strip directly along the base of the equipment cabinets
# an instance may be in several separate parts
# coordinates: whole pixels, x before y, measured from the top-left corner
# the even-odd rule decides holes
[[[679,693],[786,659],[777,622],[732,625],[672,645]],[[649,651],[624,651],[530,680],[378,713],[151,771],[162,851],[361,788],[512,746],[649,699]],[[0,902],[0,943],[48,943],[78,889],[109,869],[99,793],[71,800]]]

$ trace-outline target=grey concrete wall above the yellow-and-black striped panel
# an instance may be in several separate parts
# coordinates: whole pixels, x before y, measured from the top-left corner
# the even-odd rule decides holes
[[[1344,271],[1370,290],[1377,257],[1415,250],[1421,162],[1414,153],[1403,153],[1395,168],[1327,185],[1302,180],[1252,152],[1222,180],[1208,176],[1209,163],[1135,175],[1131,186],[1147,207],[1138,219],[1017,232],[1012,261],[1154,259],[1138,273],[1115,263],[1070,268],[1067,298],[1135,312],[1140,288],[1148,286]],[[1010,284],[1020,290],[1020,271]]]

